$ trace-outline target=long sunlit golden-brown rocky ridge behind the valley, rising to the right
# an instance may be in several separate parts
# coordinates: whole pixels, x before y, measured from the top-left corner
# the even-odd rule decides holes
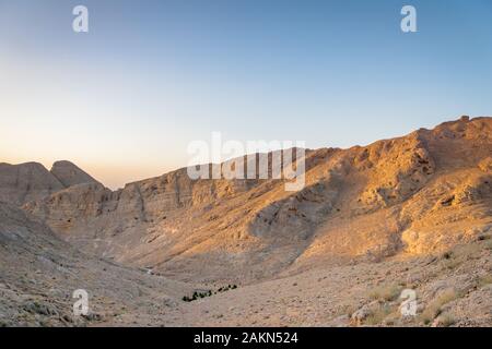
[[[71,186],[25,209],[90,252],[183,279],[255,279],[444,251],[492,225],[492,119],[306,152],[306,186],[190,180]]]

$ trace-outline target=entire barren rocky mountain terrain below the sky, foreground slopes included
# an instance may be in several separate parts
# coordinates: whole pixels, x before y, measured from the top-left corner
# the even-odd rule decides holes
[[[492,325],[492,118],[305,161],[297,192],[0,165],[0,327]]]

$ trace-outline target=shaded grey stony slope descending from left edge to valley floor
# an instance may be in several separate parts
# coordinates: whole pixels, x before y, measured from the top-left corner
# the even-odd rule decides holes
[[[90,296],[91,313],[85,317],[72,313],[77,289]],[[0,327],[108,321],[155,325],[190,290],[147,270],[89,257],[23,210],[0,203]]]

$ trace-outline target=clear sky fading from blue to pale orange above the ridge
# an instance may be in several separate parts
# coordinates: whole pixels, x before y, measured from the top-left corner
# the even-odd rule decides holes
[[[0,161],[118,186],[212,131],[349,147],[491,113],[490,0],[0,0]]]

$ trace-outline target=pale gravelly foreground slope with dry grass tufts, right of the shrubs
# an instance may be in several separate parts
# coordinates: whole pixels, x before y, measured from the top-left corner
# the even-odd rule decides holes
[[[492,231],[443,254],[319,267],[183,303],[177,326],[492,326]],[[403,290],[417,296],[402,316]],[[175,311],[173,311],[174,313]]]

